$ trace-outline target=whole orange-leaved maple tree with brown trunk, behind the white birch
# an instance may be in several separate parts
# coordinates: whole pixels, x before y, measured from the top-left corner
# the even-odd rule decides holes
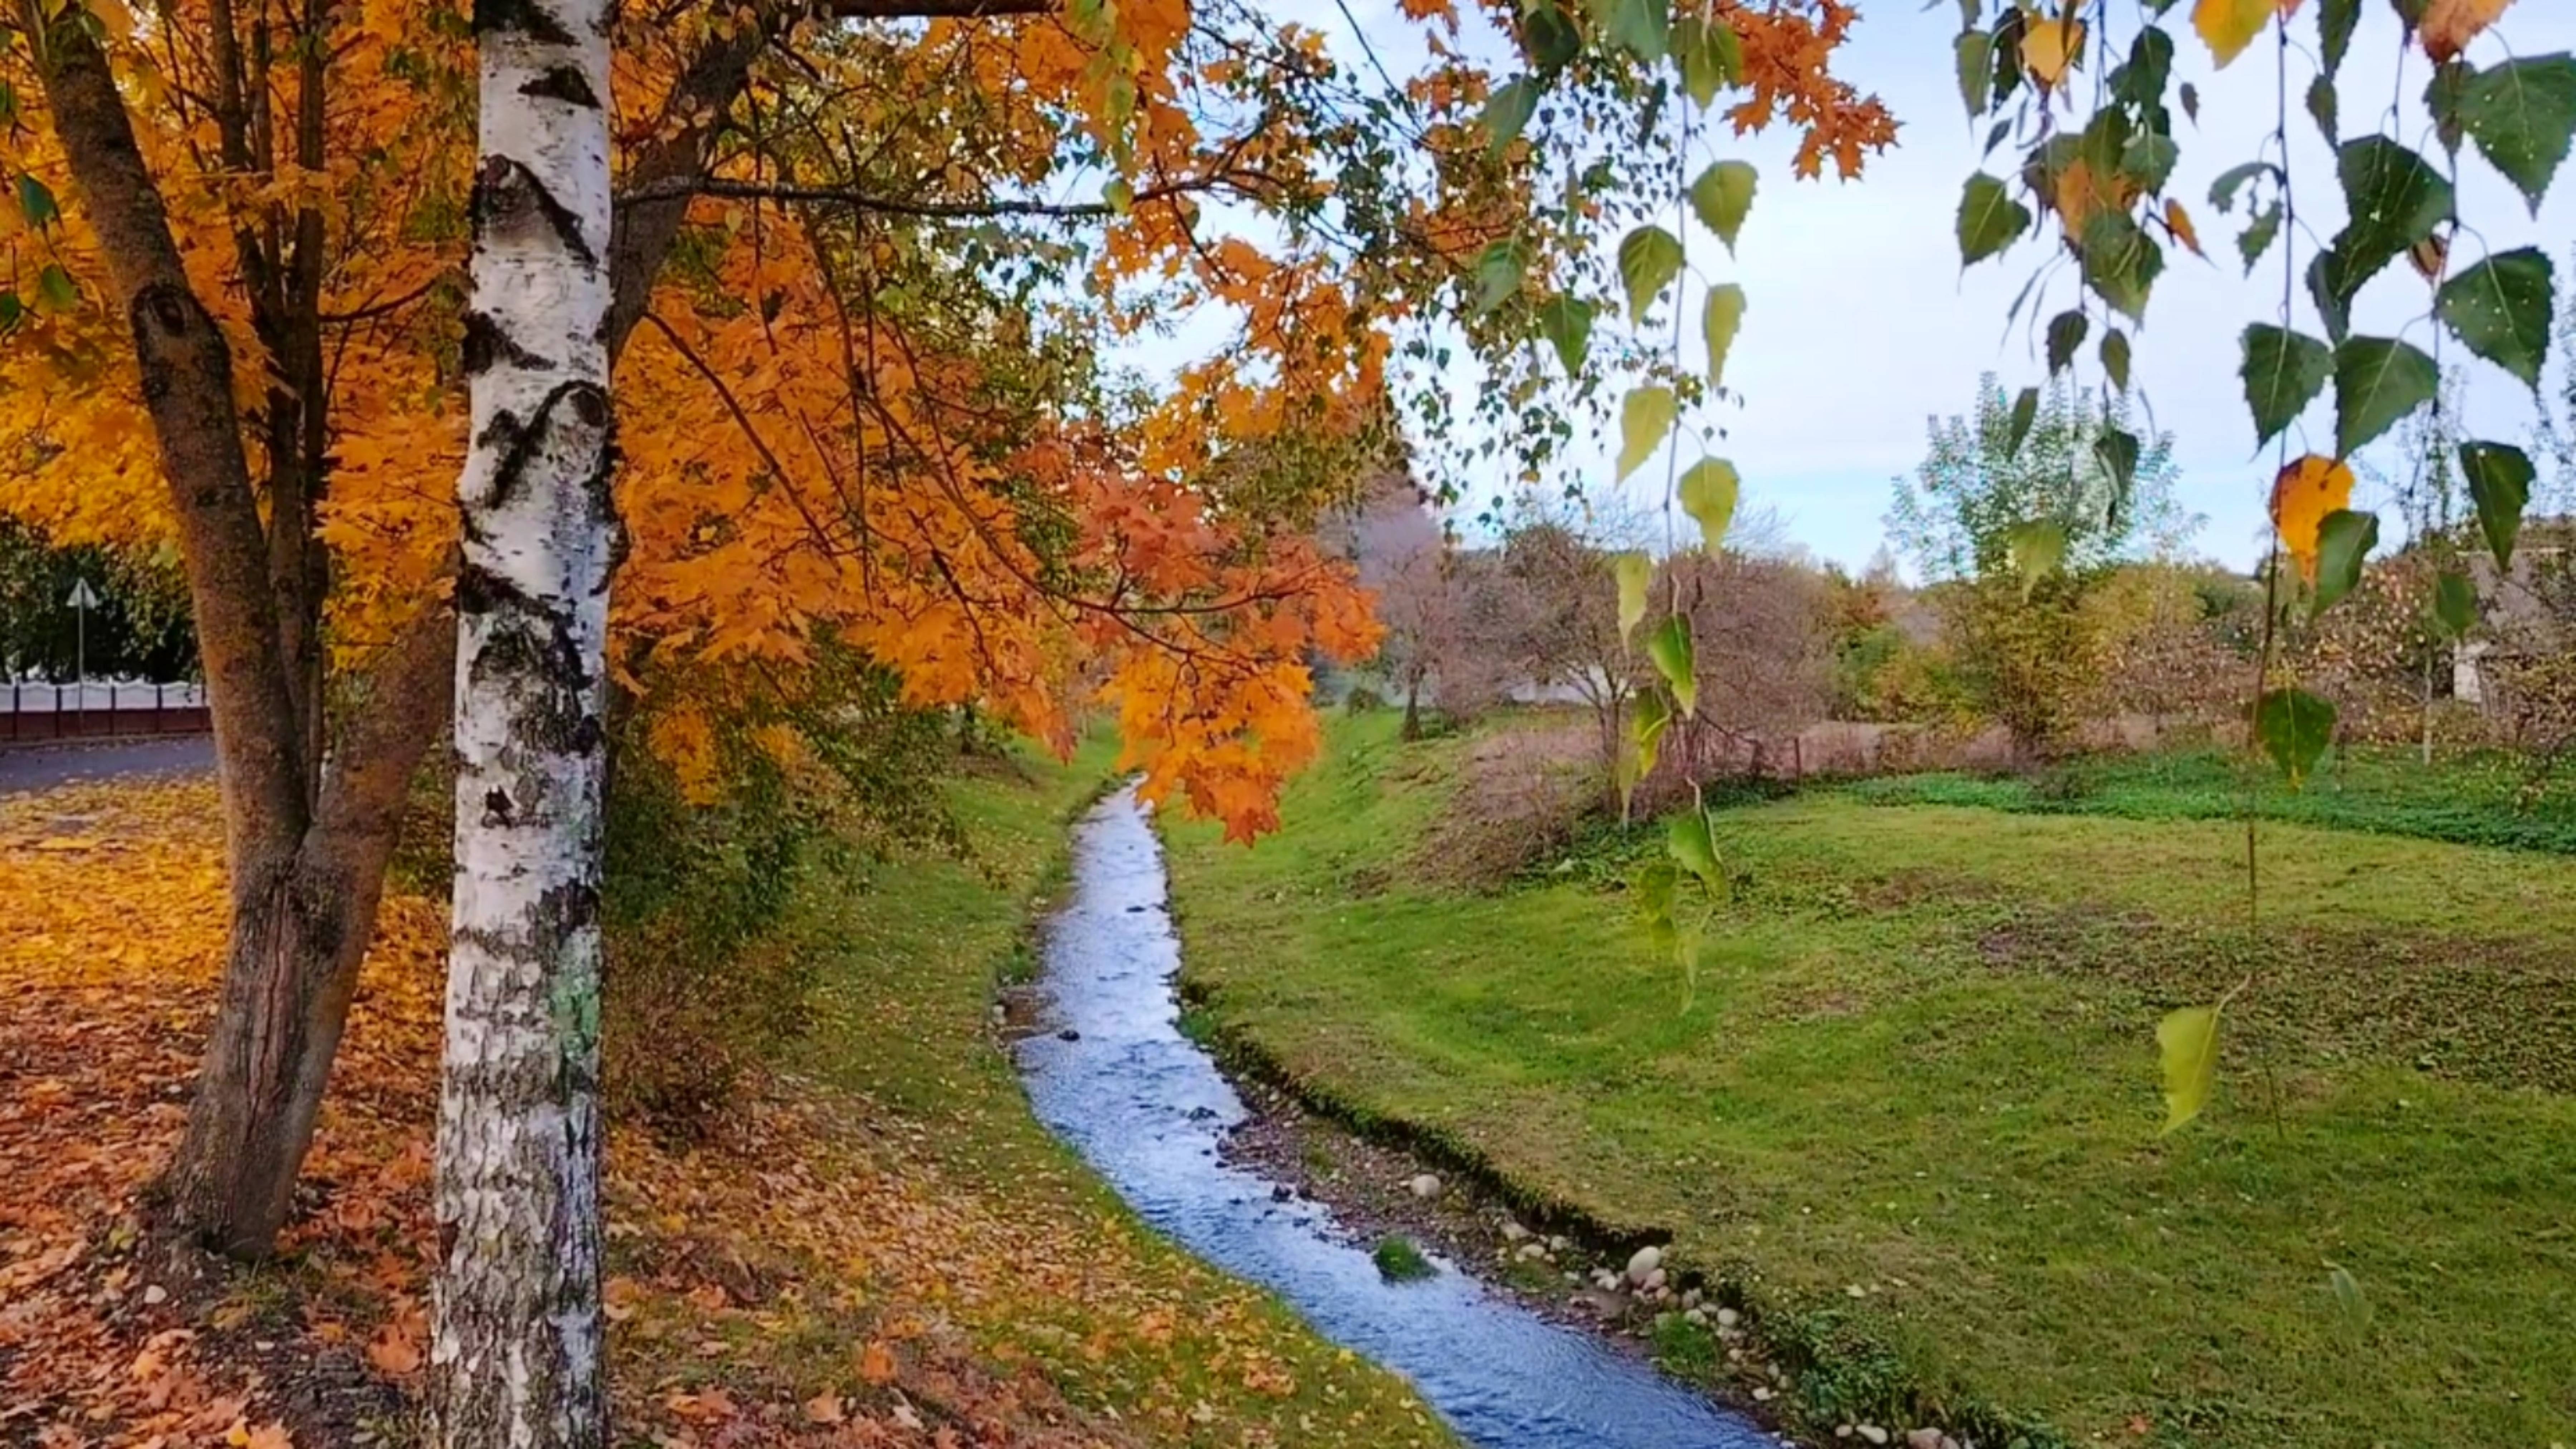
[[[1540,204],[1530,139],[1649,85],[1615,18],[1494,3],[1574,106],[1489,147],[1510,83],[1445,39],[1458,10],[1409,15],[1432,64],[1381,90],[1231,0],[623,13],[611,681],[696,660],[793,696],[842,639],[912,704],[1056,743],[1097,688],[1149,794],[1273,825],[1316,745],[1303,655],[1376,642],[1303,518],[1383,443],[1388,364],[1445,345],[1443,317],[1494,369],[1528,358],[1497,312],[1525,322],[1540,278],[1589,266],[1597,209]],[[1721,15],[1739,126],[1801,124],[1803,165],[1844,170],[1893,134],[1821,70],[1847,8]],[[495,345],[459,281],[471,28],[392,0],[95,0],[21,8],[5,39],[8,508],[185,559],[232,944],[167,1212],[260,1253],[453,673],[446,477]],[[1213,229],[1211,201],[1275,237]],[[1533,291],[1499,309],[1479,307],[1494,245]],[[1103,338],[1200,304],[1236,335],[1177,387],[1105,366]],[[1437,423],[1425,397],[1409,415]],[[1538,407],[1525,384],[1484,397]],[[716,773],[693,709],[721,696],[657,730],[685,773]]]

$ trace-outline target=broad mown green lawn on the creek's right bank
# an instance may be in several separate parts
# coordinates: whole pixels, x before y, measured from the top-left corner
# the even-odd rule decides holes
[[[1685,977],[1615,859],[1414,884],[1463,753],[1342,722],[1278,838],[1172,828],[1185,975],[1319,1091],[1839,1341],[1821,1423],[1911,1390],[2074,1441],[2576,1444],[2566,861],[2264,825],[2257,928],[2226,820],[1811,792],[1718,817]],[[2159,1140],[2159,1013],[2246,977]]]

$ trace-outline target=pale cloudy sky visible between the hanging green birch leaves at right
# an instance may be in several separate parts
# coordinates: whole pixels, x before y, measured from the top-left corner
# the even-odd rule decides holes
[[[1396,0],[1347,0],[1347,21],[1332,0],[1280,0],[1280,8],[1283,15],[1293,13],[1321,28],[1352,67],[1368,64],[1352,21],[1399,77],[1422,57],[1419,28],[1399,15]],[[1471,5],[1461,5],[1466,8]],[[2362,98],[2388,95],[2398,111],[2393,134],[2437,157],[2439,147],[2416,101],[2429,75],[2424,54],[2403,52],[2401,75],[2393,13],[2385,5],[2362,10],[2342,77],[2344,134],[2380,126],[2388,106]],[[2239,204],[2233,217],[2221,217],[2208,204],[2208,186],[2228,165],[2254,157],[2272,129],[2272,52],[2269,39],[2259,41],[2233,67],[2213,75],[2208,52],[2187,28],[2187,5],[2174,8],[2169,28],[2177,31],[2174,80],[2197,83],[2202,98],[2197,126],[2182,121],[2177,108],[2182,165],[2169,193],[2190,209],[2213,260],[2179,248],[2166,258],[2146,325],[2133,335],[2133,379],[2154,423],[2174,433],[2179,503],[2208,518],[2192,549],[2246,567],[2264,534],[2272,451],[2254,451],[2254,425],[2236,376],[2236,338],[2246,322],[2272,320],[2277,312],[2280,245],[2246,278],[2233,245],[2246,209]],[[2025,240],[1999,263],[1986,260],[1965,273],[1958,266],[1958,193],[1978,168],[1986,124],[1971,126],[1958,101],[1950,62],[1955,34],[1953,0],[1935,0],[1932,10],[1914,0],[1860,0],[1860,23],[1834,64],[1860,90],[1878,93],[1891,106],[1904,124],[1899,147],[1873,157],[1855,183],[1795,180],[1793,131],[1747,139],[1721,134],[1716,155],[1759,168],[1752,219],[1731,260],[1716,237],[1687,237],[1692,258],[1718,258],[1716,281],[1736,281],[1749,294],[1744,330],[1726,364],[1728,387],[1741,392],[1744,405],[1718,407],[1705,418],[1726,425],[1718,451],[1744,477],[1744,505],[1772,508],[1793,541],[1847,567],[1860,567],[1878,549],[1888,485],[1922,459],[1927,418],[1968,410],[1981,371],[1999,374],[2007,389],[2043,382],[2045,364],[2030,320],[2045,322],[2074,302],[2069,268],[2058,268],[2045,304],[2025,307],[2022,327],[2007,335],[2004,315],[2045,260],[2045,248]],[[2300,15],[2293,34],[2311,41],[2313,21]],[[1486,44],[1499,46],[1492,39]],[[2566,49],[2576,49],[2576,3],[2519,0],[2496,31],[2478,39],[2468,59],[2491,64],[2504,54]],[[2293,88],[2306,85],[2298,57],[2290,77]],[[2295,98],[2290,142],[2293,186],[2306,183],[2300,209],[2318,237],[2331,237],[2342,222],[2334,155]],[[1989,168],[2002,173],[2012,165],[2009,155],[2007,142]],[[2465,147],[2458,209],[2465,227],[2494,250],[2543,245],[2566,281],[2576,248],[2576,160],[2561,170],[2535,219],[2476,147]],[[2040,224],[2053,232],[2048,219]],[[1602,245],[1615,245],[1615,237]],[[2455,266],[2476,255],[2476,240],[2463,235]],[[2300,266],[2306,258],[2300,250]],[[1698,294],[1685,307],[1687,317],[1698,317]],[[2427,307],[2424,284],[2398,263],[2362,291],[2352,325],[2354,333],[2398,333],[2429,351]],[[2298,327],[2324,333],[2303,294]],[[1188,348],[1195,330],[1162,345]],[[2089,345],[2081,358],[2097,382]],[[2445,364],[2465,364],[2463,418],[2470,436],[2524,441],[2535,413],[2522,382],[2468,358],[2458,343],[2447,348]],[[2318,451],[2331,451],[2331,400],[2321,400],[2303,418],[2303,431],[2293,433],[2293,446],[2313,441]],[[1615,443],[1597,446],[1579,467],[1605,482],[1613,449]],[[1692,459],[1682,462],[1687,467]],[[1651,477],[1662,490],[1664,472],[1656,462],[1636,477]],[[2357,498],[2357,505],[2378,503],[2385,498],[2367,498],[2367,487]],[[2385,513],[2383,536],[2393,539],[2398,518],[2393,508]]]

